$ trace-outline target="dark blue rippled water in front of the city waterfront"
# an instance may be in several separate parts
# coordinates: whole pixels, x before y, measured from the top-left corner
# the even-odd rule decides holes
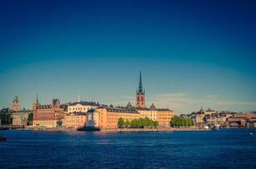
[[[0,135],[0,168],[256,168],[256,130]]]

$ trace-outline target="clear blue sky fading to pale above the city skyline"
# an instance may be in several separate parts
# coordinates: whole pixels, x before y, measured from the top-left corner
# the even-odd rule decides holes
[[[256,110],[256,1],[0,1],[0,108],[82,100]]]

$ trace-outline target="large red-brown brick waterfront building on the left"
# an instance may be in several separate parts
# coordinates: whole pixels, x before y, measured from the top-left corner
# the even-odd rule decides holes
[[[64,118],[64,108],[58,99],[53,99],[51,105],[37,105],[34,110],[33,126],[55,128]]]

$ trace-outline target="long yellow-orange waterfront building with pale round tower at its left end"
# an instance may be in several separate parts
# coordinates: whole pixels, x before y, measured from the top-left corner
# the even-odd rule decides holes
[[[98,107],[86,112],[86,127],[118,128],[118,120],[125,121],[140,118],[140,114],[127,108]]]

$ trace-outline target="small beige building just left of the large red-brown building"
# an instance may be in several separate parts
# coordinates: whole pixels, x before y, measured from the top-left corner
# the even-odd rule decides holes
[[[12,113],[13,126],[27,126],[32,123],[33,120],[33,111],[23,110]]]

